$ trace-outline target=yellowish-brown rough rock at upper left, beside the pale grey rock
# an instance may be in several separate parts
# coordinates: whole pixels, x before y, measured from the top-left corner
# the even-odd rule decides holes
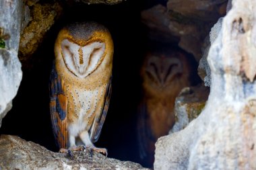
[[[40,46],[46,32],[53,26],[57,18],[62,13],[59,3],[37,3],[37,1],[27,1],[24,15],[24,26],[20,38],[19,58],[21,61],[27,60]]]

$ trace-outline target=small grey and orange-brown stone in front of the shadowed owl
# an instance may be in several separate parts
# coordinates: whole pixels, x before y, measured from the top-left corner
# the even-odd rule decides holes
[[[185,87],[175,100],[175,124],[169,134],[183,130],[199,116],[208,99],[209,88],[203,85]]]

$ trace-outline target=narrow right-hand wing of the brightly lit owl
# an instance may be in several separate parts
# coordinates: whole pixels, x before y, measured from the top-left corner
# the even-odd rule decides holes
[[[92,124],[92,128],[90,130],[90,138],[92,142],[97,142],[98,138],[100,136],[100,132],[102,130],[102,126],[104,124],[106,113],[108,112],[108,105],[110,101],[110,95],[112,91],[112,77],[110,77],[108,81],[108,85],[106,87],[106,93],[104,97],[104,108],[101,113],[96,114],[96,117],[94,118],[94,123]]]

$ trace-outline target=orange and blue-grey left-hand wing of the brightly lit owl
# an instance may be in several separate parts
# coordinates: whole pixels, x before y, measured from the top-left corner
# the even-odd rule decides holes
[[[63,80],[57,74],[55,64],[50,76],[50,112],[53,134],[59,148],[67,148],[67,97],[63,91]]]

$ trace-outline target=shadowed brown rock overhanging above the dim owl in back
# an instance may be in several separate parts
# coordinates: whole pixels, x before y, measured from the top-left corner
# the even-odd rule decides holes
[[[227,0],[168,0],[141,12],[148,36],[160,42],[175,42],[183,50],[201,58],[201,46],[210,28],[226,14]]]

